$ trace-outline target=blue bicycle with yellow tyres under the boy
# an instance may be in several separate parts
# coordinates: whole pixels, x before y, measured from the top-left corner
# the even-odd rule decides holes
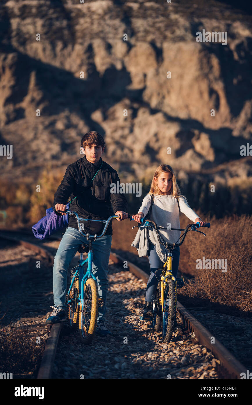
[[[88,345],[92,342],[95,335],[98,307],[104,305],[103,299],[99,298],[98,296],[97,279],[92,273],[92,262],[94,256],[92,251],[92,242],[103,237],[109,222],[113,218],[119,218],[120,215],[112,215],[107,221],[105,221],[79,218],[76,212],[69,210],[57,210],[57,212],[73,215],[77,220],[80,234],[86,237],[87,241],[89,242],[89,245],[82,243],[78,249],[78,252],[80,253],[80,260],[78,261],[78,265],[71,270],[71,284],[66,294],[70,325],[73,327],[78,327],[79,324],[79,332],[82,343]],[[80,221],[103,222],[105,223],[105,226],[103,232],[99,236],[97,236],[97,234],[84,234],[82,232]],[[86,260],[83,260],[83,254],[85,252],[88,254],[88,257]],[[86,272],[84,272],[85,263],[88,264]]]

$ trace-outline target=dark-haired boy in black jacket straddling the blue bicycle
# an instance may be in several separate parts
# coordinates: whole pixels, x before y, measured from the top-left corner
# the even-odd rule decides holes
[[[120,215],[120,218],[116,218],[118,221],[126,219],[128,215],[125,196],[110,192],[110,184],[116,184],[116,181],[120,182],[120,179],[118,173],[101,158],[105,148],[103,137],[97,131],[87,132],[82,137],[81,147],[85,155],[67,166],[63,180],[55,193],[54,212],[57,215],[66,215],[58,213],[56,210],[65,211],[67,200],[71,196],[73,202],[70,205],[70,210],[76,211],[82,218],[107,220],[111,215]],[[97,175],[94,177],[95,173]],[[74,198],[75,196],[77,197]],[[103,228],[104,224],[101,222],[84,222],[85,232],[89,232],[91,235],[101,234]],[[110,222],[104,236],[92,243],[94,251],[92,272],[97,278],[99,298],[103,298],[104,301],[104,305],[99,307],[96,330],[97,335],[102,337],[112,335],[103,320],[106,311],[111,237],[112,226]],[[46,324],[66,320],[67,269],[82,243],[87,243],[86,238],[80,234],[76,219],[69,215],[68,227],[54,259],[53,297],[55,307],[52,307],[54,309],[46,320]]]

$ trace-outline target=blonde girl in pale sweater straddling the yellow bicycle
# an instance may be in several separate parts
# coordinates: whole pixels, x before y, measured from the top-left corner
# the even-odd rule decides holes
[[[168,164],[161,164],[157,167],[151,181],[149,193],[147,196],[145,196],[145,198],[143,198],[143,204],[140,207],[139,212],[132,215],[132,218],[136,222],[141,222],[141,218],[145,217],[148,213],[151,206],[151,194],[154,195],[154,202],[149,219],[154,221],[157,226],[167,228],[168,224],[170,224],[170,228],[180,228],[179,210],[183,212],[192,222],[199,222],[201,226],[206,224],[206,222],[202,221],[201,218],[199,218],[199,216],[189,207],[186,198],[181,195],[174,172],[171,166]],[[165,229],[159,230],[159,232],[164,242],[168,243],[176,243],[180,237],[180,231],[176,230]],[[151,243],[149,239],[150,238],[148,238],[147,256],[149,258],[151,272],[147,282],[143,316],[153,318],[152,301],[155,298],[157,284],[162,273],[162,270],[157,271],[156,273],[155,271],[162,269],[164,262],[162,262],[160,256],[157,254],[155,245]],[[134,245],[134,242],[131,246],[139,247],[139,245]],[[175,247],[172,251],[172,274],[174,277],[176,277],[178,272],[178,262],[179,247]],[[177,326],[176,322],[175,326]]]

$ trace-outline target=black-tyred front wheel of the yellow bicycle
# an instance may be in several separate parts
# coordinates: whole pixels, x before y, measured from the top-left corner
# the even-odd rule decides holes
[[[164,343],[172,339],[174,321],[176,317],[176,286],[172,279],[166,279],[164,293],[164,311],[162,314],[162,337]]]

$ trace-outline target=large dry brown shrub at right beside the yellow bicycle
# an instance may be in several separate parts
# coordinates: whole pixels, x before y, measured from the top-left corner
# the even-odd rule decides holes
[[[181,246],[180,270],[194,277],[179,292],[244,312],[252,311],[252,216],[234,215],[210,222],[209,229],[200,228],[206,237],[189,232]],[[202,260],[203,256],[211,262],[212,259],[224,259],[225,263],[227,259],[227,272],[221,269],[197,270],[196,260]]]

